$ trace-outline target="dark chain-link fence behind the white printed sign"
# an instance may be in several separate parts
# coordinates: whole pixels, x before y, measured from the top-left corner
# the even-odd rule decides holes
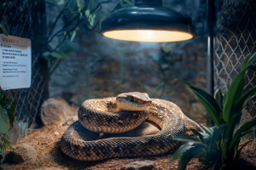
[[[34,127],[40,116],[40,106],[48,98],[47,62],[40,54],[46,48],[44,0],[0,0],[1,24],[9,35],[32,41],[31,88],[3,91],[4,97],[17,102],[15,116],[22,131]],[[2,33],[2,30],[1,32]],[[38,119],[40,120],[40,119]],[[24,132],[21,132],[24,133]]]

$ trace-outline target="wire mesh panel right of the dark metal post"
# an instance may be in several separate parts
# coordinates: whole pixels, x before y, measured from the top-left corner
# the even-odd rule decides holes
[[[220,1],[218,1],[220,2]],[[247,54],[256,49],[256,2],[252,0],[224,0],[218,4],[217,36],[214,58],[215,90],[221,89],[225,94]],[[256,77],[253,71],[247,74],[245,91],[255,88]],[[234,92],[236,93],[236,92]],[[247,105],[241,123],[256,118],[256,98]],[[249,133],[242,140],[255,138]]]

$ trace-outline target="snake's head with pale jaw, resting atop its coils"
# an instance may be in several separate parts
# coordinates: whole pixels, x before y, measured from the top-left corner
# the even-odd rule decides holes
[[[144,111],[152,104],[148,94],[140,92],[131,92],[119,94],[116,98],[116,104],[121,111]]]

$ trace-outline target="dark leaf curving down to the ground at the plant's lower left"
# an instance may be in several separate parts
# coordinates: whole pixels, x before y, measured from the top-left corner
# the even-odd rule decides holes
[[[178,163],[178,170],[183,170],[186,168],[188,162],[192,158],[197,158],[200,156],[204,156],[204,151],[202,149],[205,149],[203,146],[195,146],[193,148],[190,148],[186,152],[183,153],[183,156],[181,157],[179,163]]]

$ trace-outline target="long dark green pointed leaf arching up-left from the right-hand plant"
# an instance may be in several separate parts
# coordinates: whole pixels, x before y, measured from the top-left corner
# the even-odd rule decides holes
[[[219,127],[221,122],[219,121],[218,117],[221,110],[218,106],[218,103],[212,97],[212,95],[208,94],[201,88],[196,88],[195,86],[191,85],[189,82],[185,82],[180,79],[179,81],[186,84],[194,92],[197,98],[201,101],[201,104],[204,105],[205,108],[207,109],[207,112],[211,116],[212,121],[215,123],[217,127]]]

